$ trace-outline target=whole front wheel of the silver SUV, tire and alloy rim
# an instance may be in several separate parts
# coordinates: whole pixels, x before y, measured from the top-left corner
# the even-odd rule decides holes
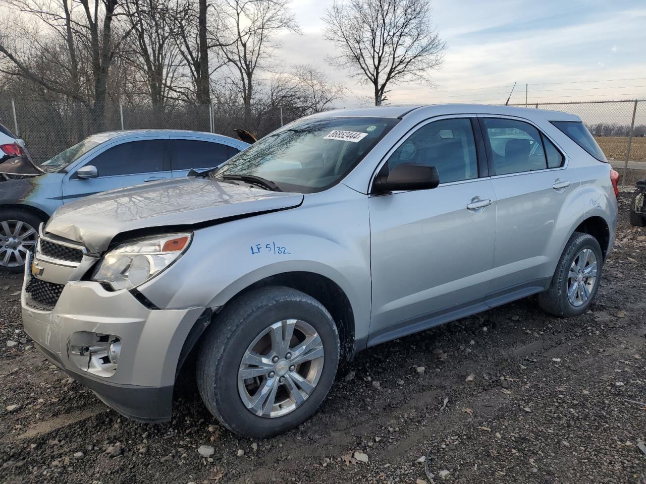
[[[227,429],[250,438],[275,436],[317,410],[339,353],[337,327],[316,299],[287,287],[252,290],[207,329],[198,389]]]

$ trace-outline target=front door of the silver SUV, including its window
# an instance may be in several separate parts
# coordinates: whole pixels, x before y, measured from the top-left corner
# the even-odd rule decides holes
[[[369,345],[485,306],[496,199],[475,123],[471,117],[426,123],[388,158],[388,170],[399,163],[435,166],[440,185],[370,196]]]

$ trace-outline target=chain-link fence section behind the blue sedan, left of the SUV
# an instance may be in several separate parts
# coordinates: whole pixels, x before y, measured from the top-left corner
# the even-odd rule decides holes
[[[298,108],[176,105],[127,106],[107,103],[104,112],[81,103],[39,103],[0,99],[0,123],[25,139],[34,161],[42,163],[97,132],[134,129],[205,131],[235,137],[242,128],[261,137],[302,116]]]

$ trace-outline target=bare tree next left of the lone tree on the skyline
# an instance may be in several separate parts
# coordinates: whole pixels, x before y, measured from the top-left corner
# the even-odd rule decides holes
[[[287,7],[288,0],[221,0],[218,12],[222,25],[215,35],[224,61],[234,72],[240,90],[245,119],[251,118],[254,74],[273,59],[280,32],[299,32]]]

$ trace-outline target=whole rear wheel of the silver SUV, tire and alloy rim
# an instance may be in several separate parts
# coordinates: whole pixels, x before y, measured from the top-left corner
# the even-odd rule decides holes
[[[602,267],[603,255],[597,239],[574,232],[559,259],[550,287],[539,294],[539,305],[562,318],[583,314],[597,294]]]

